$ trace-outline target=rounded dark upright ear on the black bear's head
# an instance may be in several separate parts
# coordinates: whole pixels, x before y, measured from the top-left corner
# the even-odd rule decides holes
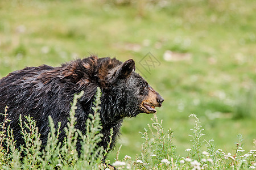
[[[133,59],[128,59],[122,64],[121,67],[118,68],[115,77],[121,79],[126,78],[131,74],[131,72],[133,72],[133,70],[135,71],[135,62]]]

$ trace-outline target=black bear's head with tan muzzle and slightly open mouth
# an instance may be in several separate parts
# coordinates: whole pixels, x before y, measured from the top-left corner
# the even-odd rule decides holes
[[[139,113],[155,113],[155,107],[161,107],[163,97],[150,87],[141,75],[135,73],[133,59],[123,63],[110,59],[100,70],[105,70],[102,82],[105,90],[113,96],[112,100],[115,100],[113,105],[122,112],[121,116],[135,117]]]

